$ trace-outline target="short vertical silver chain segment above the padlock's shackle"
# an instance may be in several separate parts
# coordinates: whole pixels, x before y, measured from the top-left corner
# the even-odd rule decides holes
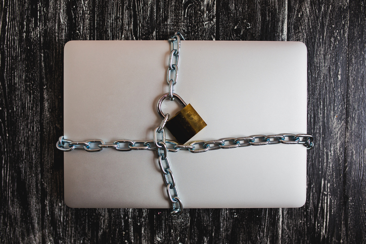
[[[169,84],[169,98],[171,101],[174,100],[173,93],[175,93],[175,84],[178,81],[180,39],[185,39],[180,32],[175,32],[174,36],[168,39],[170,42],[170,55],[168,70],[166,73],[166,82]]]

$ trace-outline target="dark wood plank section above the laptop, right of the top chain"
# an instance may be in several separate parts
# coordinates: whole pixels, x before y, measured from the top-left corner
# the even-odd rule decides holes
[[[216,40],[287,40],[287,0],[219,3]]]

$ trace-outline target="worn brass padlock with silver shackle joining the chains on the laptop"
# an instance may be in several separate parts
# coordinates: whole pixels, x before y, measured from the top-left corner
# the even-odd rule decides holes
[[[161,111],[161,104],[165,99],[169,97],[169,93],[162,95],[157,104],[157,110],[160,116],[164,119],[165,114]],[[170,133],[175,137],[175,139],[181,143],[186,143],[194,135],[196,135],[200,130],[206,127],[205,121],[196,112],[191,104],[187,105],[180,96],[173,93],[175,100],[179,102],[184,108],[176,113],[171,119],[166,122],[165,127],[168,128]]]

